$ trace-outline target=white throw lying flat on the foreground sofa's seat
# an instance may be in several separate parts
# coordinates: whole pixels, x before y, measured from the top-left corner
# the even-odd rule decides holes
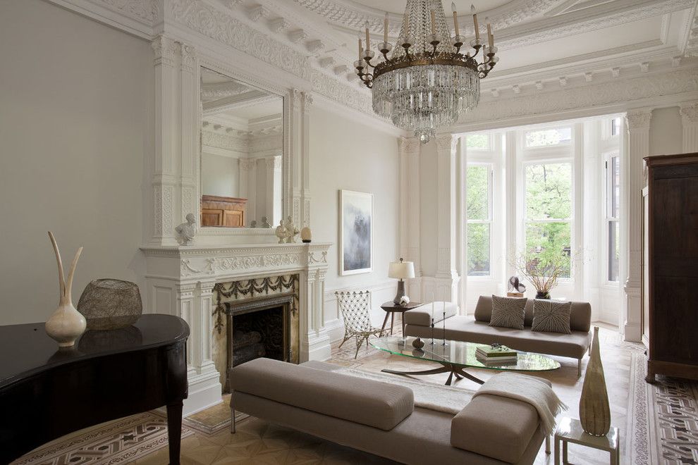
[[[409,387],[415,393],[415,406],[423,409],[443,411],[452,415],[458,414],[459,411],[463,410],[463,407],[470,402],[473,395],[472,390],[425,383],[424,381],[412,380],[403,376],[384,375],[383,373],[372,373],[352,368],[340,368],[335,373]]]

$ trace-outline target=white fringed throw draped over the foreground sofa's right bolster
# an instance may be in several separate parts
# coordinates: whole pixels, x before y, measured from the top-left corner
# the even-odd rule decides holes
[[[499,373],[487,380],[472,397],[481,394],[498,395],[531,404],[538,411],[541,428],[547,436],[555,428],[555,417],[568,407],[542,380],[518,373]]]

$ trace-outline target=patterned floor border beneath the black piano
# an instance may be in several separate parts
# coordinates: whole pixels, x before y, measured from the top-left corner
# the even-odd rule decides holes
[[[192,435],[183,427],[182,438]],[[68,435],[13,461],[13,465],[129,464],[167,446],[167,421],[152,412]]]

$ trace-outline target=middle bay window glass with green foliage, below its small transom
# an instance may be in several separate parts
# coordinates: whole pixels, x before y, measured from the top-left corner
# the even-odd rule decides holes
[[[563,261],[570,278],[572,163],[525,165],[526,252],[541,261]]]

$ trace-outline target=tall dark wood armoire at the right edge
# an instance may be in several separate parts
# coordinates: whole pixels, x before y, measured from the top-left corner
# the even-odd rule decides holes
[[[698,379],[698,154],[644,160],[647,381],[656,374]]]

